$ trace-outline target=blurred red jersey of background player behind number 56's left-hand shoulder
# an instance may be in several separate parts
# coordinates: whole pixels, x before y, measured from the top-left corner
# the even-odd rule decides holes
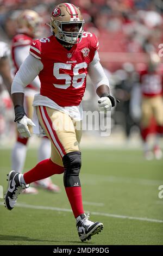
[[[11,42],[11,50],[12,50],[12,61],[14,62],[14,67],[15,67],[15,74],[20,68],[18,64],[16,63],[16,56],[15,56],[15,48],[17,47],[23,47],[23,46],[30,46],[32,44],[33,39],[26,34],[17,34],[14,36]],[[27,56],[26,56],[27,57]],[[31,89],[36,89],[32,84],[29,84],[27,86],[28,88]]]

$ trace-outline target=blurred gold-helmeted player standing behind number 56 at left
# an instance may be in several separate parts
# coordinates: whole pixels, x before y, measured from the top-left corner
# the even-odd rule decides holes
[[[41,18],[33,10],[24,10],[17,17],[17,34],[12,39],[12,60],[14,62],[15,74],[28,56],[30,44],[33,39],[38,36],[39,26],[41,25]],[[26,72],[24,72],[26,77]],[[24,91],[24,109],[28,117],[32,119],[33,115],[33,99],[36,93],[40,92],[40,80],[37,76]],[[32,129],[30,128],[30,132]],[[12,149],[12,170],[22,172],[24,162],[26,160],[28,138],[23,138],[17,134],[17,141]],[[51,155],[51,143],[47,137],[41,139],[39,147],[38,159],[42,161]],[[48,191],[60,192],[60,188],[53,184],[51,178],[36,181],[33,184]],[[29,187],[24,193],[37,193],[36,188]]]

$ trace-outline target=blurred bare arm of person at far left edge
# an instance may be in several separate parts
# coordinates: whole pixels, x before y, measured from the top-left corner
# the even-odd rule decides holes
[[[2,57],[0,59],[0,74],[3,78],[5,86],[8,89],[9,94],[11,94],[12,77],[10,74],[10,63],[8,56]]]

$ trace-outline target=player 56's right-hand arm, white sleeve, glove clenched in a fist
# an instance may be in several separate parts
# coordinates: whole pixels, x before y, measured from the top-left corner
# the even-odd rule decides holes
[[[92,83],[96,87],[96,93],[100,100],[98,100],[98,106],[100,111],[108,111],[111,107],[115,106],[115,99],[110,95],[109,81],[105,75],[101,63],[99,62],[98,52],[95,52],[95,57],[89,64],[88,69],[89,76]]]

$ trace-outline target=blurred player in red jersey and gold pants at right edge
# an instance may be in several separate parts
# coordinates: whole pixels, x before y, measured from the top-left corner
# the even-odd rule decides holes
[[[158,160],[162,158],[159,139],[163,133],[163,76],[160,66],[158,54],[151,53],[149,54],[147,68],[140,72],[142,92],[141,136],[147,160],[153,159],[153,156]],[[148,143],[148,135],[152,132],[155,133],[153,149]]]

